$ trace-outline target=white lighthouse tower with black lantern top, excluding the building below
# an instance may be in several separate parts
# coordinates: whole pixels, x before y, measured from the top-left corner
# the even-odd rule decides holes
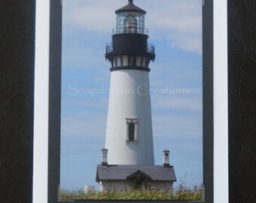
[[[154,45],[148,44],[146,11],[129,1],[115,13],[117,26],[105,53],[111,62],[105,137],[108,163],[154,165],[148,65],[155,54]]]

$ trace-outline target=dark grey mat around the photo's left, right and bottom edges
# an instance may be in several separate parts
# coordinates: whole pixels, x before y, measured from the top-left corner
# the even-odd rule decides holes
[[[49,87],[49,169],[48,202],[59,201],[60,166],[60,98],[61,98],[61,43],[62,43],[62,5],[60,1],[50,0],[50,87]],[[203,184],[205,201],[213,203],[213,0],[203,5]],[[90,203],[107,200],[75,200]],[[148,202],[148,201],[129,201]],[[154,202],[151,200],[151,202]],[[170,201],[155,201],[170,202]],[[190,202],[172,200],[175,203]]]

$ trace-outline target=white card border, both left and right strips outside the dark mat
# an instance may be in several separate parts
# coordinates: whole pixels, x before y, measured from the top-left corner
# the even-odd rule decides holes
[[[32,202],[48,203],[50,0],[36,1],[35,24],[35,118]],[[214,47],[214,202],[227,203],[227,0],[214,0]]]

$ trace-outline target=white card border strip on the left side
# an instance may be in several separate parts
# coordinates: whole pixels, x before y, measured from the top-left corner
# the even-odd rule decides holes
[[[34,203],[48,203],[48,107],[50,0],[36,1],[35,14],[35,113],[33,196]]]

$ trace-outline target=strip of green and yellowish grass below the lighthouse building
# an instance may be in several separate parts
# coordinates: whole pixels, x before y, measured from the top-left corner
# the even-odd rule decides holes
[[[83,189],[74,191],[61,190],[59,198],[60,200],[203,200],[203,186],[191,188],[181,184],[172,193],[145,189],[128,189],[121,192],[89,192],[85,194]]]

